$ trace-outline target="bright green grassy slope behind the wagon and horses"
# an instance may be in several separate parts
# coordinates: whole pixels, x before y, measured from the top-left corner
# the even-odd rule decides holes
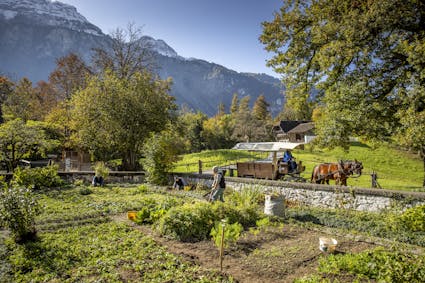
[[[306,166],[302,176],[310,180],[312,169],[322,162],[336,162],[340,159],[357,159],[363,162],[364,170],[360,178],[350,178],[349,186],[365,187],[371,186],[370,174],[376,171],[378,183],[385,189],[420,191],[424,169],[420,158],[414,154],[396,150],[389,146],[372,148],[366,144],[353,143],[348,152],[342,149],[333,150],[294,150],[293,155],[301,160]],[[236,161],[264,158],[265,154],[257,154],[236,151],[216,150],[203,151],[182,156],[177,163],[175,172],[197,172],[198,160],[202,160],[205,170],[210,170],[213,165],[227,165]],[[332,181],[331,181],[332,184]]]

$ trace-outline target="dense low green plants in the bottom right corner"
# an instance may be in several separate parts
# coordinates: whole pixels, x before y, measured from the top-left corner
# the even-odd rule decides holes
[[[330,255],[319,261],[322,274],[349,273],[377,282],[423,282],[425,257],[382,248],[359,254]]]

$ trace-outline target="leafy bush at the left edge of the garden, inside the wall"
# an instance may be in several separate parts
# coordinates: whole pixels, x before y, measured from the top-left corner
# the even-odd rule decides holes
[[[34,238],[35,216],[40,208],[30,189],[0,186],[0,226],[8,228],[16,242]]]

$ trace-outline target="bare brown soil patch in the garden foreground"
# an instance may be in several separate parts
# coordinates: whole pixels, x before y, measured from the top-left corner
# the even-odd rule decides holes
[[[184,243],[159,236],[149,226],[139,226],[119,217],[135,229],[150,235],[167,247],[168,251],[203,269],[220,270],[219,250],[213,241]],[[118,220],[115,218],[115,220]],[[238,242],[225,249],[222,272],[235,282],[293,282],[294,279],[316,273],[319,259],[329,256],[319,250],[319,237],[330,237],[320,231],[295,224],[267,227],[258,234],[245,232]],[[332,236],[337,239],[335,253],[358,253],[377,246],[374,243],[355,241],[349,236]],[[340,282],[352,282],[346,278]]]

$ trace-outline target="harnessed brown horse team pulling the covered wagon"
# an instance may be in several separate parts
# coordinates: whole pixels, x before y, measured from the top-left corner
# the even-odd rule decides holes
[[[347,185],[350,175],[362,174],[363,164],[357,160],[340,160],[338,163],[322,163],[316,165],[311,174],[311,182],[329,185],[329,180],[335,180],[335,185]]]

